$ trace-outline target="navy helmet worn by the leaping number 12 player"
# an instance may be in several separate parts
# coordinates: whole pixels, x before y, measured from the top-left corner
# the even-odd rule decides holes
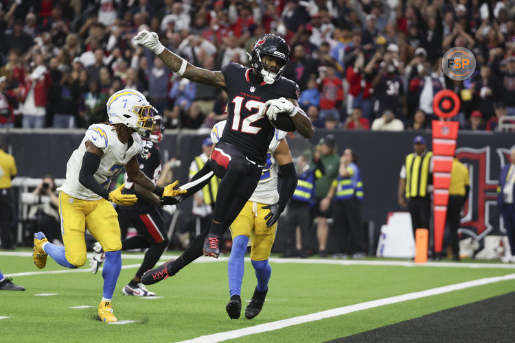
[[[271,56],[282,61],[280,68],[272,67],[263,62],[264,56]],[[267,84],[273,84],[284,72],[284,67],[290,60],[290,47],[286,40],[275,34],[264,34],[252,47],[250,58],[251,66],[257,70]]]

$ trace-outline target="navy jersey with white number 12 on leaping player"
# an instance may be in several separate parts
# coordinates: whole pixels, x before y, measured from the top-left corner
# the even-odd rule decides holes
[[[252,69],[229,63],[222,69],[227,86],[227,124],[222,141],[238,147],[255,163],[266,163],[266,152],[275,128],[266,117],[258,114],[260,107],[271,99],[298,99],[299,86],[287,78],[273,84],[254,84]]]

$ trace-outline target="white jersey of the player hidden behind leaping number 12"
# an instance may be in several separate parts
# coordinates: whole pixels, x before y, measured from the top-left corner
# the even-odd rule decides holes
[[[220,121],[211,130],[211,141],[218,143],[222,132],[224,131],[226,121]],[[260,202],[262,204],[275,204],[279,201],[279,192],[277,191],[277,174],[279,173],[279,166],[273,158],[275,149],[279,143],[286,137],[288,132],[275,129],[273,139],[268,145],[268,153],[266,154],[266,165],[263,167],[260,182],[255,187],[249,201]]]

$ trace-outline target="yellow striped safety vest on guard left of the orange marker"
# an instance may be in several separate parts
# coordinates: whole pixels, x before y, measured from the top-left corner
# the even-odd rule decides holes
[[[433,152],[426,152],[422,156],[413,152],[406,156],[406,198],[426,196],[431,156]]]

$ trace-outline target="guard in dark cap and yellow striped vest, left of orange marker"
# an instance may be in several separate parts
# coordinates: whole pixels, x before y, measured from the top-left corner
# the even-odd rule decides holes
[[[404,159],[400,171],[398,188],[399,205],[408,208],[413,226],[413,237],[417,228],[429,229],[431,217],[430,185],[433,184],[433,153],[426,150],[422,136],[413,139],[413,150]],[[404,196],[406,199],[404,200]]]

